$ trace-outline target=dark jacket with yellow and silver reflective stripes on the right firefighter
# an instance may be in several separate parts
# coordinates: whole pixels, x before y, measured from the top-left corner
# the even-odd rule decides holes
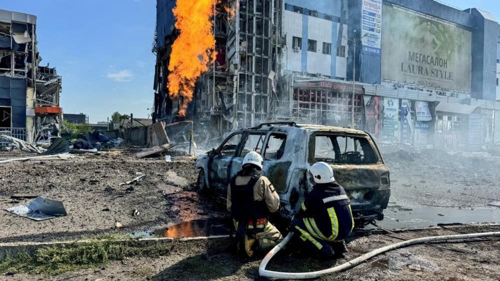
[[[295,214],[292,225],[303,225],[312,236],[326,241],[349,236],[354,219],[344,188],[336,182],[314,185]]]

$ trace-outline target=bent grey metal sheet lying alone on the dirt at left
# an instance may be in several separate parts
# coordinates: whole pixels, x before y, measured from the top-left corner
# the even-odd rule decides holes
[[[45,220],[68,214],[64,208],[63,202],[48,199],[44,196],[38,196],[28,206],[19,205],[7,208],[6,210],[33,220]]]

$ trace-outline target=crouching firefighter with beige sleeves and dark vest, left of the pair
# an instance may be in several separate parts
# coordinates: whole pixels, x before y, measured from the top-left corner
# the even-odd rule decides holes
[[[270,250],[282,239],[279,230],[268,220],[269,213],[279,208],[279,196],[262,174],[262,165],[259,153],[246,154],[242,170],[227,189],[227,209],[236,228],[236,251],[248,257],[256,250]]]

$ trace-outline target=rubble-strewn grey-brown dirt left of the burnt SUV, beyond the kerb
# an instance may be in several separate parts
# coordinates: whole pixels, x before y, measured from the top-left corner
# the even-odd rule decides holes
[[[2,153],[2,158],[24,157]],[[71,160],[32,160],[0,164],[0,242],[78,239],[118,231],[133,233],[167,227],[181,221],[223,216],[220,208],[193,190],[198,172],[195,159],[173,157],[136,159],[131,154],[88,154]],[[143,181],[120,185],[146,174]],[[33,221],[4,210],[33,199],[11,196],[43,195],[64,203],[67,216]],[[134,210],[139,215],[134,216]],[[117,229],[119,221],[124,227]]]

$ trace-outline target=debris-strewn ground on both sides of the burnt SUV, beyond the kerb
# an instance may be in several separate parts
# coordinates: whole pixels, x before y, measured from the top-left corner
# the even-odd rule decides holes
[[[20,156],[26,154],[0,153],[0,159]],[[400,150],[384,154],[384,160],[391,170],[392,189],[386,223],[381,225],[414,228],[439,222],[500,221],[495,212],[499,208],[488,206],[500,200],[499,157]],[[166,162],[161,157],[136,159],[129,152],[0,164],[0,225],[9,225],[0,229],[0,242],[76,239],[110,231],[149,233],[181,221],[227,215],[224,207],[195,192],[194,164],[190,156]],[[120,185],[138,172],[146,174],[143,181]],[[13,195],[62,200],[69,215],[38,222],[16,216],[3,209],[32,199]],[[137,216],[134,210],[139,211]],[[489,216],[481,217],[478,210]],[[450,217],[454,213],[456,219]],[[460,221],[465,214],[467,219]],[[124,227],[116,228],[117,221]]]

